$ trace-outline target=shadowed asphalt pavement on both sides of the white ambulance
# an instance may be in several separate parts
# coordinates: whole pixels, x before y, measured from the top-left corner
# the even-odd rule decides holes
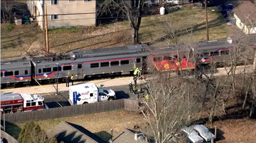
[[[109,87],[102,87],[102,88],[109,89]],[[113,86],[113,87],[110,87],[110,89],[115,91],[117,99],[136,98],[136,95],[129,92],[128,85]],[[61,104],[61,106],[70,106],[70,103],[67,101],[68,94],[69,94],[68,91],[61,91],[60,95],[55,95],[54,93],[50,94],[53,98],[48,94],[43,94],[43,96],[44,96],[44,101],[49,108],[56,108],[56,107],[60,107],[58,103]],[[55,100],[58,101],[58,103]]]

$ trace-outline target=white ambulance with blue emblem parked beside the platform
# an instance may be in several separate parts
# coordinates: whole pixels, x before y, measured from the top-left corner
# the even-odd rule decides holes
[[[104,90],[95,84],[78,84],[69,88],[69,102],[71,105],[94,103],[99,101],[111,101],[116,99],[116,93],[109,89]]]

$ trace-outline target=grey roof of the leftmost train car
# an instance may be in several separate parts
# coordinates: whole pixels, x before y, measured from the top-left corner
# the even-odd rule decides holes
[[[21,68],[21,67],[31,67],[30,61],[28,59],[17,59],[17,60],[3,60],[1,61],[1,70]]]

